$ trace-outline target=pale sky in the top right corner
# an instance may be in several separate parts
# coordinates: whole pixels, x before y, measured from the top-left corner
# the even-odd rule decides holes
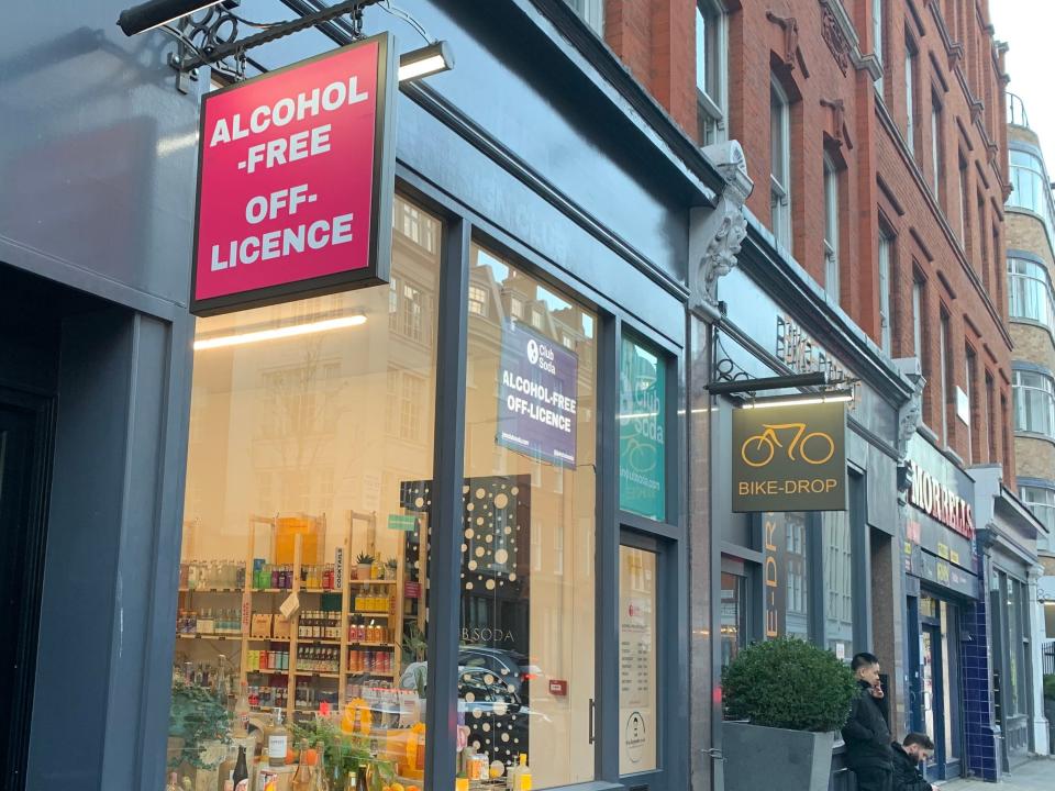
[[[1008,91],[1025,103],[1030,127],[1041,138],[1048,171],[1055,169],[1055,100],[1048,59],[1055,0],[989,0],[997,41],[1007,42]]]

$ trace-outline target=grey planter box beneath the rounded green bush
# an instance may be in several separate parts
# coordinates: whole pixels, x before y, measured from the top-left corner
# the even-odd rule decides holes
[[[722,723],[725,791],[828,791],[835,735]]]

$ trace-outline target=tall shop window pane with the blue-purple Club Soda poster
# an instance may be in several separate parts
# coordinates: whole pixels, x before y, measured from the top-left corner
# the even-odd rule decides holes
[[[474,246],[470,281],[515,289],[545,320],[469,313],[465,401],[463,657],[458,710],[470,751],[535,788],[595,778],[593,573],[597,426],[593,316],[514,263]],[[480,271],[487,269],[488,271]],[[576,348],[562,334],[579,338]],[[559,682],[559,683],[557,683]]]

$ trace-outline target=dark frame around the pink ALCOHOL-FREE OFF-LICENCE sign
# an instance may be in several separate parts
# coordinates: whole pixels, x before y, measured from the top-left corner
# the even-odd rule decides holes
[[[365,261],[352,261],[345,266],[329,265],[330,271],[303,279],[276,279],[255,288],[235,289],[219,296],[199,297],[199,268],[201,265],[201,224],[202,224],[202,185],[208,179],[206,174],[209,136],[207,134],[207,108],[216,99],[229,99],[236,91],[253,92],[255,87],[276,78],[288,76],[291,73],[324,60],[338,58],[362,47],[377,47],[377,58],[374,66],[375,80],[366,90],[374,91],[375,110],[373,122],[373,161],[370,167],[371,183],[369,187],[369,239],[366,244]],[[263,308],[266,305],[322,297],[338,291],[356,288],[381,286],[389,282],[391,268],[392,244],[392,211],[396,192],[396,107],[398,100],[398,48],[395,37],[389,33],[380,33],[360,41],[356,41],[331,52],[322,53],[284,68],[237,82],[226,88],[211,91],[202,97],[199,113],[199,146],[198,146],[198,176],[195,208],[195,237],[193,258],[191,261],[190,312],[197,316],[211,316],[222,313]],[[336,74],[336,73],[335,73]],[[347,75],[345,75],[345,78]],[[306,86],[307,88],[323,86]],[[360,90],[363,88],[360,87]],[[248,94],[248,93],[247,93]],[[265,133],[266,134],[266,133]],[[259,135],[259,142],[274,135]],[[286,135],[288,137],[288,135]],[[348,148],[333,148],[338,156],[347,157]],[[288,166],[287,166],[288,167]],[[293,187],[297,177],[285,178],[282,183]],[[287,193],[287,199],[290,196]],[[347,201],[347,198],[345,198]],[[344,203],[346,205],[346,202]],[[306,231],[306,236],[307,236]],[[327,245],[330,259],[340,257],[340,248],[334,250]],[[281,264],[286,257],[278,257],[276,263]],[[356,265],[358,264],[358,265]],[[259,265],[257,263],[257,265]],[[209,266],[209,263],[206,263]],[[246,265],[246,266],[253,266]]]

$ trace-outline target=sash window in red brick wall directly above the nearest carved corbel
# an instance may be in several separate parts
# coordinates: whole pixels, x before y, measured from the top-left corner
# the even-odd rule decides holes
[[[728,22],[718,0],[696,3],[696,91],[703,145],[728,137]]]

